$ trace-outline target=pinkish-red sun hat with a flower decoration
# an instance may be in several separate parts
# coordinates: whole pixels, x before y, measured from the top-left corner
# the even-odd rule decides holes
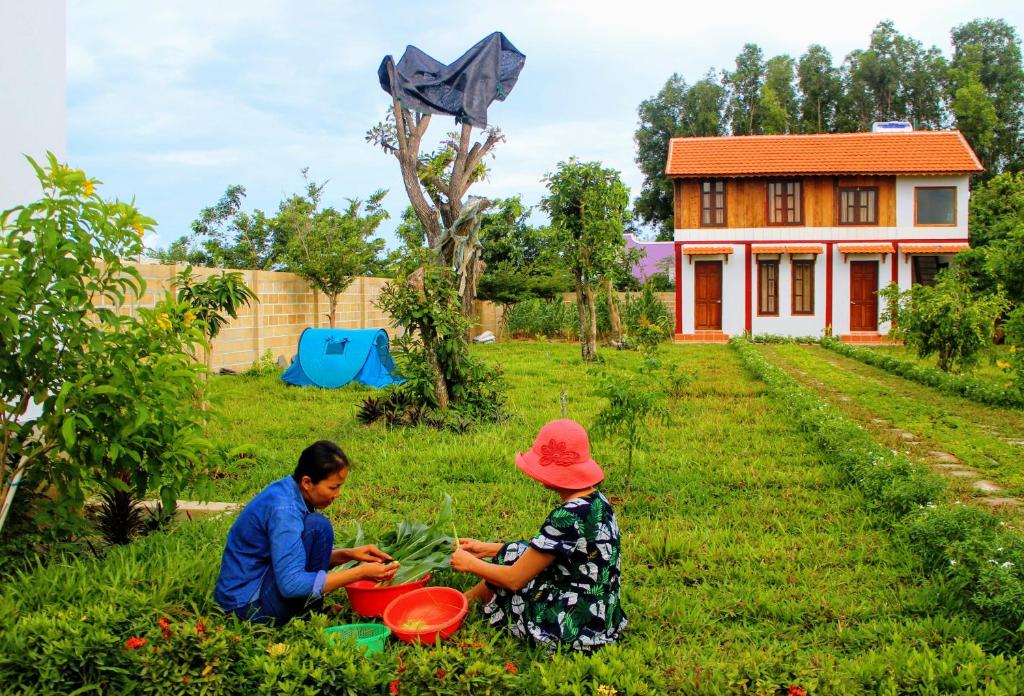
[[[564,490],[582,490],[604,479],[600,465],[590,455],[587,431],[568,419],[541,428],[530,450],[515,455],[515,466],[531,479]]]

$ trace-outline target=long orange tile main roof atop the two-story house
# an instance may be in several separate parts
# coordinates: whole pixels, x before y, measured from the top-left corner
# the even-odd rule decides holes
[[[959,131],[672,138],[665,169],[681,178],[982,171]]]

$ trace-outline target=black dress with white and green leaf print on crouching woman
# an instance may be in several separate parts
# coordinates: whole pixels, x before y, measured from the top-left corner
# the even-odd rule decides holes
[[[600,492],[555,508],[528,542],[502,547],[495,563],[512,565],[532,547],[555,560],[518,592],[492,586],[483,609],[493,625],[552,648],[592,651],[626,627],[618,599],[618,524]]]

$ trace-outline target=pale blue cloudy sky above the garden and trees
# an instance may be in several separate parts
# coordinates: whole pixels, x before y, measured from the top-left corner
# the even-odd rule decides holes
[[[838,66],[891,19],[905,36],[949,54],[949,32],[978,17],[1024,35],[1024,2],[902,0],[840,5],[519,0],[68,0],[68,158],[134,199],[158,221],[146,242],[166,247],[199,211],[241,184],[245,209],[272,214],[302,189],[301,170],[327,180],[324,203],[342,207],[389,190],[394,227],[408,205],[397,161],[366,142],[389,96],[381,59],[414,45],[452,62],[500,31],[526,55],[519,82],[488,110],[506,141],[489,177],[470,189],[521,194],[536,206],[543,178],[575,156],[622,173],[635,197],[637,106],[679,73],[690,83],[729,70],[744,43],[765,58],[799,58],[819,43]],[[434,116],[427,141],[455,128]],[[474,131],[476,133],[477,131]],[[535,219],[543,219],[537,214]]]

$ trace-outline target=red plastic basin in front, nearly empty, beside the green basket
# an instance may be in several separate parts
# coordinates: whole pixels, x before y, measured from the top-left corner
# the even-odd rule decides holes
[[[384,625],[406,643],[444,640],[469,611],[466,596],[452,588],[423,588],[402,595],[384,610]]]

